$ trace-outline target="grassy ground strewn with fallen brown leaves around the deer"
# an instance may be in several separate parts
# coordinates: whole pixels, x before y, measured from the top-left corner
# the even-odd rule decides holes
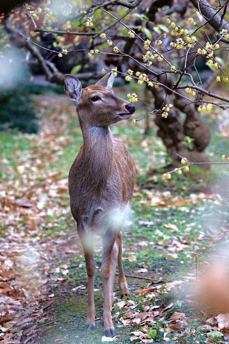
[[[96,330],[83,332],[87,274],[69,208],[68,171],[82,143],[81,130],[65,96],[35,99],[39,133],[0,135],[0,341],[100,343],[108,340],[101,318],[102,247],[98,239]],[[225,113],[206,119],[213,129],[211,160],[220,160],[216,150],[229,150]],[[121,299],[117,276],[112,316],[118,335],[112,340],[229,341],[229,314],[198,307],[195,292],[203,269],[216,258],[227,259],[228,170],[193,167],[187,176],[163,181],[166,152],[156,126],[152,123],[147,136],[143,121],[127,120],[111,129],[122,137],[138,169],[133,211],[123,229],[131,297]]]

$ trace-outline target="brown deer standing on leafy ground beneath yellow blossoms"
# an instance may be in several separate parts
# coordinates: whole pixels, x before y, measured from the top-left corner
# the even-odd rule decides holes
[[[93,234],[103,241],[103,323],[108,337],[115,335],[111,317],[116,261],[122,297],[129,296],[122,263],[121,229],[125,209],[136,181],[134,161],[121,140],[112,136],[109,125],[127,119],[135,106],[113,94],[114,76],[105,75],[84,89],[80,81],[65,75],[65,92],[77,107],[83,146],[69,172],[71,212],[77,222],[88,275],[88,309],[84,330],[95,328]]]

